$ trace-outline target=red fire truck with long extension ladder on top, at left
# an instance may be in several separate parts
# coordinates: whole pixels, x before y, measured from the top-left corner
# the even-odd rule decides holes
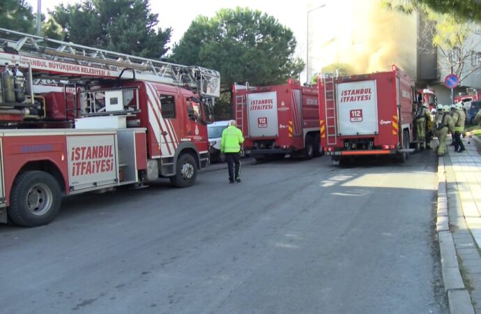
[[[63,195],[191,186],[220,75],[0,29],[0,221],[49,223]]]

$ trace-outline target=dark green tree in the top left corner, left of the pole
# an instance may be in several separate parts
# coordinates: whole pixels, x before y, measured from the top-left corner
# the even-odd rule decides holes
[[[0,1],[0,27],[22,33],[35,33],[35,15],[26,0]]]

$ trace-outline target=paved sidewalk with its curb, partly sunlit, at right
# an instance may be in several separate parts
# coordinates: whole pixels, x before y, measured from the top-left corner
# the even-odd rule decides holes
[[[481,156],[475,140],[463,139],[462,153],[448,146],[448,155],[438,158],[436,227],[451,314],[481,314]]]

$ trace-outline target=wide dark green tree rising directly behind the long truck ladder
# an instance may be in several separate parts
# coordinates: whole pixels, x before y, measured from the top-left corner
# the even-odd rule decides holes
[[[171,29],[158,29],[158,14],[144,0],[82,0],[49,11],[65,32],[63,40],[137,57],[160,59]]]

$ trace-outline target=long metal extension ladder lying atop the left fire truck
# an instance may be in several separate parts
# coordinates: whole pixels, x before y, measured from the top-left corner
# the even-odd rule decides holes
[[[6,63],[30,67],[34,80],[70,81],[123,75],[123,78],[197,89],[200,96],[211,98],[211,101],[220,96],[220,74],[216,70],[135,57],[0,28],[0,65]],[[49,68],[49,65],[53,67]],[[124,73],[124,70],[129,71]]]

